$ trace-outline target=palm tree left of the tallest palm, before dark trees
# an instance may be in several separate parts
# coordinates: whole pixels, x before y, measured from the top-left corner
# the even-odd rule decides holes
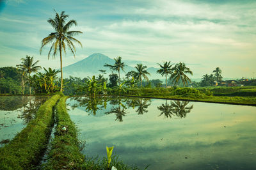
[[[20,68],[22,76],[26,76],[25,74],[28,73],[28,78],[30,78],[31,73],[37,72],[41,68],[41,66],[36,66],[39,60],[33,63],[33,58],[34,57],[31,58],[27,55],[26,58],[21,58],[20,65],[16,65],[18,68]],[[31,95],[31,82],[29,82],[29,95]]]

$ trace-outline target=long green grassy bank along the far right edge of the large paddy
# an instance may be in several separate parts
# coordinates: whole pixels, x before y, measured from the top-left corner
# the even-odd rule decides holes
[[[122,91],[110,91],[113,95],[124,95],[129,97],[149,97],[190,100],[198,102],[213,102],[221,104],[256,105],[256,88],[234,87],[234,88],[132,88]],[[224,93],[225,92],[225,93]],[[218,96],[216,94],[223,94]],[[232,93],[232,95],[230,95]],[[243,97],[236,96],[243,93]]]

